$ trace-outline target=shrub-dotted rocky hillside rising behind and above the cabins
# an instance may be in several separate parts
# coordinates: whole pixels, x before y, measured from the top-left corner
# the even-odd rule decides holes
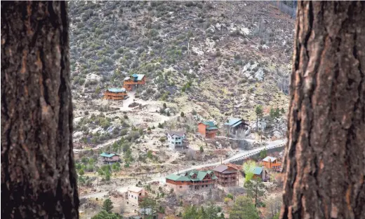
[[[286,108],[294,20],[270,3],[71,1],[69,15],[76,116],[105,110],[103,90],[132,73],[147,76],[133,99],[179,114],[222,122]]]

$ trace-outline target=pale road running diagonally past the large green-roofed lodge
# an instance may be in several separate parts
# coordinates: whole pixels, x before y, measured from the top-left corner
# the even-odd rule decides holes
[[[253,142],[253,140],[251,140],[251,141]],[[286,144],[286,139],[277,140],[277,141],[264,141],[264,142],[267,143],[266,146],[262,146],[260,148],[255,148],[253,150],[246,150],[246,151],[243,151],[241,153],[237,153],[236,155],[233,155],[232,157],[227,158],[226,160],[223,160],[223,164],[228,163],[228,162],[235,162],[237,160],[242,160],[246,157],[251,157],[252,155],[260,153],[260,151],[264,150],[265,148],[266,149],[272,149],[272,148],[283,147]],[[190,168],[187,168],[187,169],[181,169],[181,170],[179,170],[179,173],[182,173],[182,172],[185,172],[185,171],[190,171],[192,169],[200,169],[200,168],[203,168],[203,167],[217,166],[219,164],[220,164],[220,162],[214,162],[214,163],[209,163],[209,164],[201,164],[201,165],[193,166],[193,167],[190,167]],[[177,173],[178,172],[176,171],[173,174],[177,174]],[[159,178],[154,178],[151,181],[147,181],[145,183],[152,183],[152,182],[155,182],[155,181],[164,181],[165,177],[166,176],[161,176]],[[112,189],[117,190],[118,192],[126,192],[127,189],[128,189],[128,186],[117,187],[117,188],[112,188]],[[88,194],[88,195],[81,196],[81,198],[86,198],[86,199],[88,199],[88,198],[97,198],[97,197],[101,198],[101,197],[104,197],[105,195],[107,195],[108,192],[109,191],[91,193],[91,194]]]

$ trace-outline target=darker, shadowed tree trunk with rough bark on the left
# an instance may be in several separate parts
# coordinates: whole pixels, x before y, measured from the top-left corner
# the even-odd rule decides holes
[[[1,218],[79,218],[66,8],[1,2]]]

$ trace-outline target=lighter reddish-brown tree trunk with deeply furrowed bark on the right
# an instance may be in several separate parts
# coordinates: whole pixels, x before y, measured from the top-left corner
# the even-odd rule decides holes
[[[365,218],[365,2],[298,2],[280,218]]]

